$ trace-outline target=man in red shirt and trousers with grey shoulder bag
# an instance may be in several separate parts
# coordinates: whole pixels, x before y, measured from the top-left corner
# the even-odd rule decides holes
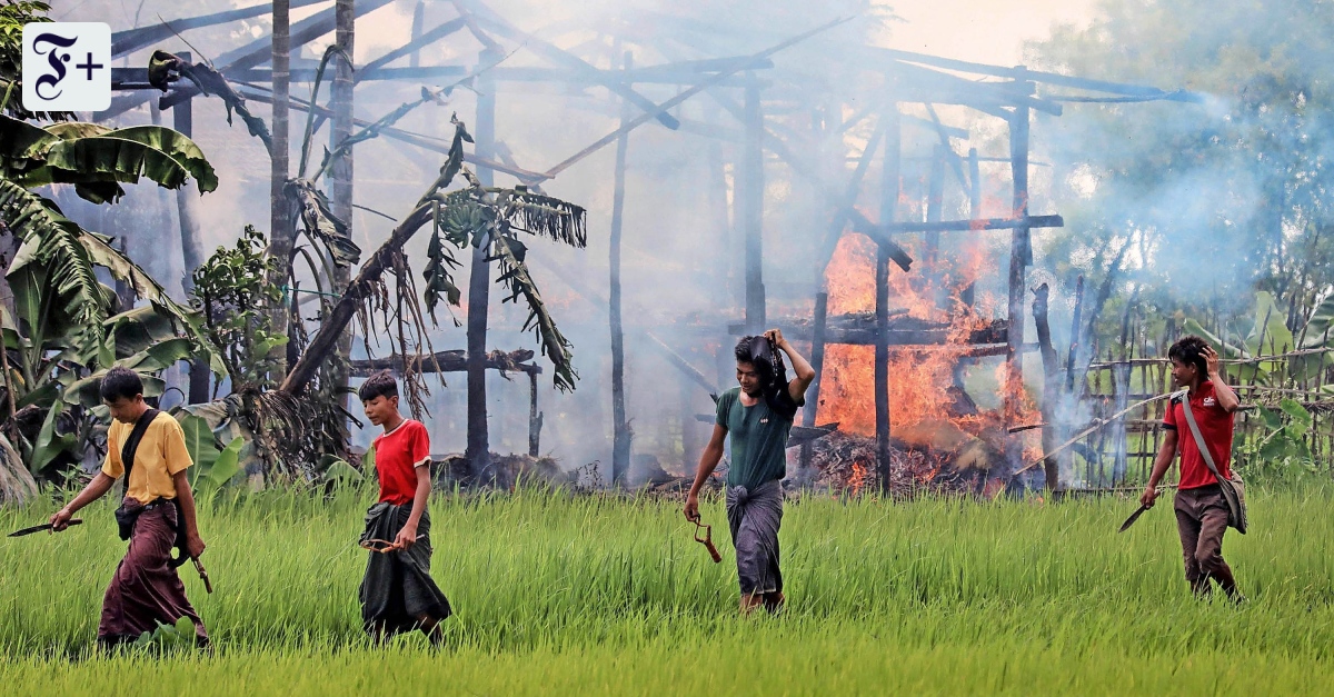
[[[1186,559],[1186,579],[1199,596],[1210,592],[1210,578],[1218,581],[1229,598],[1242,600],[1233,570],[1223,561],[1223,533],[1227,530],[1229,507],[1222,487],[1201,455],[1195,435],[1186,422],[1182,399],[1190,399],[1190,413],[1195,417],[1201,435],[1209,446],[1214,466],[1225,478],[1230,475],[1233,453],[1233,413],[1239,402],[1237,393],[1219,375],[1218,354],[1199,336],[1183,336],[1167,350],[1171,377],[1178,387],[1186,387],[1185,397],[1174,397],[1163,418],[1163,443],[1154,461],[1149,486],[1139,497],[1145,506],[1158,498],[1162,481],[1181,445],[1181,482],[1177,486],[1174,509],[1177,531],[1181,533],[1182,555]]]

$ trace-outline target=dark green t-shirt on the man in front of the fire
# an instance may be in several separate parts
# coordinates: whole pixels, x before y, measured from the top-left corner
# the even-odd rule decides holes
[[[792,395],[784,389],[775,398],[779,407],[775,411],[763,398],[755,406],[744,406],[740,395],[742,389],[732,387],[718,398],[715,423],[727,429],[732,445],[727,486],[744,486],[754,491],[766,482],[787,477],[787,434],[806,399],[792,402]]]

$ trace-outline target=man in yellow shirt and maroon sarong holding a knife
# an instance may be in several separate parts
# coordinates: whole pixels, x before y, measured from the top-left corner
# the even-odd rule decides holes
[[[112,417],[107,459],[88,486],[51,517],[52,530],[68,527],[73,514],[109,491],[128,465],[125,498],[116,519],[128,523],[121,527],[121,538],[129,539],[129,550],[107,586],[97,644],[113,646],[133,641],[156,629],[159,622],[172,625],[188,617],[195,622],[197,644],[207,645],[204,624],[185,598],[185,586],[176,569],[168,563],[181,522],[185,550],[195,558],[204,553],[195,522],[195,497],[185,478],[185,470],[193,463],[185,451],[185,435],[175,418],[144,403],[144,385],[135,371],[111,369],[101,379],[100,391]],[[140,425],[145,418],[151,421]],[[140,435],[137,445],[136,431]]]

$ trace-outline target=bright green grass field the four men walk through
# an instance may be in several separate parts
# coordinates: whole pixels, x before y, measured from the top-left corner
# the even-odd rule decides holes
[[[736,617],[723,563],[670,502],[542,491],[432,502],[448,649],[359,632],[363,493],[205,505],[216,593],[183,574],[212,654],[95,656],[123,543],[109,506],[60,535],[0,538],[5,694],[1327,693],[1334,495],[1255,491],[1225,553],[1251,601],[1198,602],[1166,501],[807,497],[783,525],[788,609]],[[0,527],[47,507],[0,511]]]

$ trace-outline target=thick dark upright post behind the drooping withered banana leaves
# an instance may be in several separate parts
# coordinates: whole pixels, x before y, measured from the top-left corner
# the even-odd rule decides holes
[[[478,63],[488,65],[499,56],[492,49],[482,52]],[[492,72],[478,76],[478,119],[474,124],[474,152],[478,158],[494,159],[496,140],[496,91]],[[483,186],[495,186],[495,172],[478,167]],[[487,308],[491,303],[491,264],[487,262],[491,243],[474,247],[468,275],[468,439],[464,457],[475,478],[491,473],[491,445],[487,434]]]

